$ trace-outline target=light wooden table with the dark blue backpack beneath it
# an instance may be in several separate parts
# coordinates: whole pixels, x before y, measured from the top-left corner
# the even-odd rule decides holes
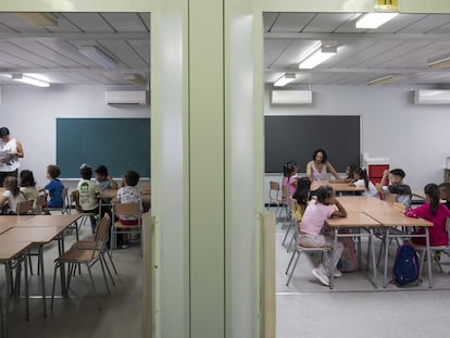
[[[429,235],[428,227],[433,226],[432,222],[422,218],[412,218],[403,215],[403,211],[395,205],[395,203],[388,203],[373,197],[359,197],[359,196],[346,196],[338,197],[338,200],[342,203],[348,212],[360,211],[365,213],[378,222],[382,226],[385,235],[385,265],[384,265],[384,279],[383,286],[387,286],[387,268],[388,268],[388,255],[389,255],[389,240],[391,238],[411,238],[411,237],[424,237],[427,248],[427,265],[428,265],[428,285],[433,287],[432,276],[432,261],[429,252]],[[425,234],[411,235],[408,233],[391,233],[393,227],[401,226],[404,228],[411,227],[424,227]]]

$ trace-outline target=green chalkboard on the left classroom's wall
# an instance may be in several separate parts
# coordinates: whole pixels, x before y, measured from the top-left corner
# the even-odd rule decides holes
[[[57,118],[57,164],[62,178],[79,166],[103,164],[113,177],[133,170],[150,177],[150,118]]]

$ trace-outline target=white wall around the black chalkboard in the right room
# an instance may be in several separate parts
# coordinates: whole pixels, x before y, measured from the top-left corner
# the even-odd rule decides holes
[[[391,167],[405,171],[404,181],[422,190],[427,183],[443,179],[442,168],[450,157],[450,105],[414,105],[414,89],[418,88],[313,86],[312,105],[284,107],[270,104],[267,87],[264,114],[361,115],[362,152],[389,158]]]

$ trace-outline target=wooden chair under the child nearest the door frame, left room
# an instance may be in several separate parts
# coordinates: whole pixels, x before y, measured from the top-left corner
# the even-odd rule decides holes
[[[122,216],[134,216],[138,221],[136,225],[123,225],[118,221],[118,215]],[[141,208],[138,202],[135,203],[113,203],[112,204],[112,226],[111,226],[111,248],[116,249],[117,243],[117,235],[118,234],[127,234],[128,236],[132,234],[141,235],[142,229],[142,217],[141,217]],[[117,220],[117,221],[115,221]],[[140,254],[142,254],[142,240],[140,240]]]

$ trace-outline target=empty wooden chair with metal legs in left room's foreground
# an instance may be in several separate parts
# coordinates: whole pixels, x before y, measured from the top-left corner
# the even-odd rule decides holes
[[[108,285],[107,274],[104,272],[103,259],[101,254],[102,247],[105,246],[105,242],[108,240],[109,224],[110,224],[110,217],[109,216],[103,217],[100,221],[99,226],[98,226],[98,233],[100,233],[100,235],[96,236],[96,239],[91,242],[90,246],[87,246],[86,249],[82,249],[82,248],[77,248],[76,245],[74,245],[68,251],[64,252],[58,259],[54,260],[53,286],[52,286],[52,291],[51,291],[51,306],[50,306],[51,310],[53,310],[57,272],[58,272],[58,268],[62,268],[64,264],[67,264],[67,274],[66,274],[67,277],[65,280],[66,290],[68,290],[68,288],[71,287],[71,280],[72,280],[72,276],[74,275],[73,272],[75,267],[78,264],[86,265],[88,273],[89,273],[90,284],[92,285],[92,290],[93,290],[95,299],[97,302],[97,306],[99,310],[101,310],[101,306],[98,302],[97,289],[96,289],[96,284],[93,283],[91,267],[97,262],[100,262],[101,271],[103,273],[104,285],[107,287],[108,295],[111,295],[110,287]],[[63,284],[63,280],[61,280],[61,284]]]

